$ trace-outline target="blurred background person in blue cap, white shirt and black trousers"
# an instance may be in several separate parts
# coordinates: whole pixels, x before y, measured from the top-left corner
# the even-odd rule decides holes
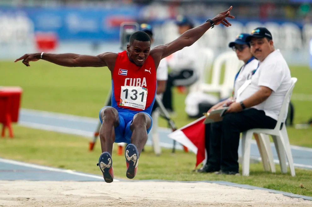
[[[186,16],[177,16],[175,23],[178,26],[179,34],[194,28],[194,23]],[[166,58],[170,72],[163,96],[163,104],[169,112],[174,111],[172,106],[172,87],[180,85],[189,86],[198,80],[199,74],[196,72],[198,50],[198,43],[195,42],[191,46],[185,47]]]

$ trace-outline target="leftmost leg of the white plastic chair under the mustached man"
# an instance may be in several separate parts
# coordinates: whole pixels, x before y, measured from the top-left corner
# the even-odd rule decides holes
[[[253,132],[249,130],[242,133],[242,175],[244,176],[249,176],[250,145],[252,136]]]

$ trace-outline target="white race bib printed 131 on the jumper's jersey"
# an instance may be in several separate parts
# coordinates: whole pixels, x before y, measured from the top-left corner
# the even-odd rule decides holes
[[[144,110],[146,107],[147,88],[140,86],[121,86],[119,106],[128,106]]]

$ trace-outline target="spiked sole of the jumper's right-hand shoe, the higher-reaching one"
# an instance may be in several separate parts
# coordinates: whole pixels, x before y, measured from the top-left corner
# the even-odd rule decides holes
[[[126,171],[126,176],[129,179],[133,179],[136,175],[136,163],[138,161],[138,151],[134,144],[128,144],[125,149],[125,158],[128,163],[128,169]]]

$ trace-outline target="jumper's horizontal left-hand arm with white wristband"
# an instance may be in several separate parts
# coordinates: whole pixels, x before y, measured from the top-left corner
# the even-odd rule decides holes
[[[107,66],[104,56],[108,53],[99,54],[97,56],[81,55],[74,53],[50,54],[50,53],[31,53],[24,54],[14,62],[23,60],[22,63],[30,66],[29,62],[37,60],[46,60],[51,63],[66,67],[104,67]]]

